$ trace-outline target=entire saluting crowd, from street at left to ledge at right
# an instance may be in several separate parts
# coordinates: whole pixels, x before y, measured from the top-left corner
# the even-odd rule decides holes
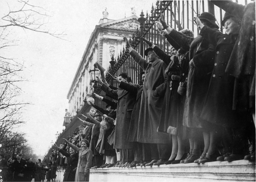
[[[191,30],[169,27],[161,15],[159,31],[171,55],[142,38],[147,60],[124,37],[143,69],[139,85],[126,73],[113,76],[118,88],[98,77],[100,89],[117,102],[94,93],[106,109],[90,102],[97,113],[79,116],[83,125],[55,145],[44,161],[48,168],[17,155],[6,164],[6,181],[44,180],[46,171],[47,181],[54,180],[57,166],[65,169],[63,181],[89,181],[90,169],[97,168],[255,161],[255,2],[212,3],[226,11],[226,34],[209,12],[194,18],[195,38]]]

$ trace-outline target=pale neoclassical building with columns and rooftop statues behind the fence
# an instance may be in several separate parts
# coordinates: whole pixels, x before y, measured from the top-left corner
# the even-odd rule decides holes
[[[130,17],[118,20],[108,19],[106,9],[102,14],[103,19],[100,19],[99,25],[95,27],[90,36],[68,91],[68,111],[71,116],[76,115],[77,109],[80,110],[84,105],[83,100],[92,94],[93,88],[89,70],[94,68],[93,64],[98,62],[107,70],[112,55],[117,58],[117,54],[125,45],[123,37],[132,37],[137,27],[140,28],[140,23],[134,9]]]

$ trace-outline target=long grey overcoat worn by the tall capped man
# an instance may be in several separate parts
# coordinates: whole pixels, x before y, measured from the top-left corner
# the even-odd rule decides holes
[[[161,59],[148,63],[134,49],[129,53],[135,62],[145,71],[145,80],[141,96],[140,116],[137,141],[142,143],[170,143],[170,136],[157,132],[160,121],[164,97],[160,97],[165,90],[160,86],[166,80],[164,73],[166,64]]]

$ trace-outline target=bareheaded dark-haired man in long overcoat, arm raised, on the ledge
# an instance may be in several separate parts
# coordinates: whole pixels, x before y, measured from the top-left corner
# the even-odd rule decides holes
[[[131,122],[132,110],[136,102],[137,95],[120,88],[120,85],[119,88],[116,90],[111,89],[107,86],[106,83],[103,83],[103,81],[99,77],[97,78],[100,84],[102,84],[102,86],[100,87],[101,90],[106,92],[108,95],[118,97],[114,148],[122,149],[123,158],[126,161],[126,163],[124,163],[123,161],[123,164],[120,164],[118,167],[126,167],[130,165],[132,161],[134,161],[134,159],[132,159],[133,151],[131,150],[134,148],[134,143],[127,140],[127,134]],[[118,80],[129,83],[135,87],[140,87],[138,84],[132,84],[131,82],[129,82],[128,75],[126,73],[121,73],[118,76]],[[130,153],[131,155],[128,153]]]

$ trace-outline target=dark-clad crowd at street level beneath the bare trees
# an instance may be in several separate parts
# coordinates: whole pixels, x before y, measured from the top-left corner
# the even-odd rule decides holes
[[[55,161],[43,165],[41,159],[23,159],[21,154],[8,160],[4,159],[4,154],[0,153],[0,180],[2,181],[55,181],[57,166]]]

